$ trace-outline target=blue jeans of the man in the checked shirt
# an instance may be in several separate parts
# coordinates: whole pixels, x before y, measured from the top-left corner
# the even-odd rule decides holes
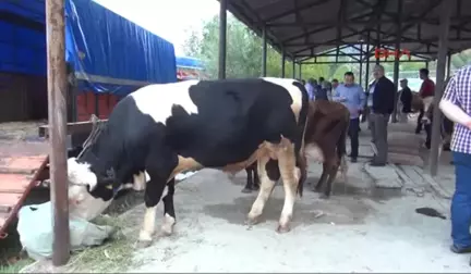
[[[451,238],[458,248],[471,247],[471,154],[452,152],[456,187],[451,200]]]

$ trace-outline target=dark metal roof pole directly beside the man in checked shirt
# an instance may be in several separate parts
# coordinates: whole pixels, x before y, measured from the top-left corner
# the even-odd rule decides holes
[[[448,51],[448,34],[450,27],[450,13],[451,4],[448,1],[442,1],[440,11],[440,25],[438,33],[438,54],[437,54],[437,71],[436,71],[436,86],[434,96],[434,105],[438,105],[445,88],[445,70],[446,70],[446,55]],[[432,146],[430,153],[430,174],[436,176],[438,170],[438,146],[440,144],[440,121],[442,112],[439,108],[434,108],[432,123]]]

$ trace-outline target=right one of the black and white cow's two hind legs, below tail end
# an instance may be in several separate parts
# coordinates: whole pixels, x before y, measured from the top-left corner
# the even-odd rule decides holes
[[[278,166],[285,188],[285,204],[277,228],[278,233],[289,232],[294,207],[297,188],[301,176],[300,169],[295,165],[294,145],[287,144],[278,151]]]

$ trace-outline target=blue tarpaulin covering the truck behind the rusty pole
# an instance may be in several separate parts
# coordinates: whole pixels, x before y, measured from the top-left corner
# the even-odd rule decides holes
[[[65,0],[65,59],[81,90],[177,82],[173,45],[92,0]],[[46,75],[44,0],[0,1],[0,72]]]

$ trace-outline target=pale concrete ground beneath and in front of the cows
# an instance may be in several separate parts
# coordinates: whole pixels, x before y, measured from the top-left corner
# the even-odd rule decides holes
[[[361,154],[369,154],[366,136],[361,144]],[[201,171],[177,186],[174,234],[136,250],[138,267],[130,272],[470,272],[470,257],[449,251],[449,200],[423,182],[377,188],[366,161],[350,164],[348,184],[339,176],[329,200],[305,186],[288,234],[275,232],[281,184],[262,222],[247,229],[244,220],[256,194],[241,192],[245,173],[230,180],[222,172]],[[311,163],[309,182],[319,176],[321,165]],[[422,207],[447,220],[415,213]],[[130,236],[137,237],[143,213],[144,205],[124,213]]]

